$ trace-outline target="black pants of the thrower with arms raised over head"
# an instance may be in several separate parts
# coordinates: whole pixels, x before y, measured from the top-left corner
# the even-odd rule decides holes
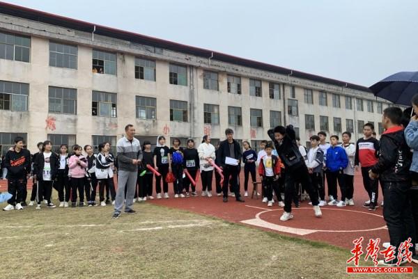
[[[312,205],[318,205],[318,195],[312,186],[311,177],[309,176],[307,166],[303,165],[294,170],[286,171],[286,178],[284,184],[284,211],[292,211],[292,198],[295,191],[295,182],[299,181],[308,192]]]

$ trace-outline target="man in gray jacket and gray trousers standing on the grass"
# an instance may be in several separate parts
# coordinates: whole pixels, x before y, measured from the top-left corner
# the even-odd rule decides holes
[[[135,187],[137,186],[138,165],[141,164],[142,151],[141,145],[137,138],[134,138],[135,128],[128,124],[125,127],[126,135],[116,144],[116,152],[118,153],[118,191],[116,192],[115,211],[112,218],[116,219],[121,216],[123,201],[126,205],[125,213],[135,214],[132,209],[132,203],[135,196]]]

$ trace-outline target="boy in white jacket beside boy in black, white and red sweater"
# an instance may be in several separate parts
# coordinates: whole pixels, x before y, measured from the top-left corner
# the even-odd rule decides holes
[[[353,193],[354,193],[354,157],[355,157],[355,145],[350,143],[351,133],[349,131],[343,132],[343,143],[341,147],[346,150],[348,157],[348,165],[344,169],[344,183],[346,184],[346,205],[354,205]]]

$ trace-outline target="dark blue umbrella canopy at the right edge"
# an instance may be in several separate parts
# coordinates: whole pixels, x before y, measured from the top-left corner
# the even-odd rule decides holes
[[[377,97],[394,104],[411,105],[411,99],[418,94],[418,72],[398,72],[370,86]]]

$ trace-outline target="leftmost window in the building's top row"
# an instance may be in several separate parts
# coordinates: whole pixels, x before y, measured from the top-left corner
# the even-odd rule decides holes
[[[29,62],[31,38],[0,32],[0,58]]]

